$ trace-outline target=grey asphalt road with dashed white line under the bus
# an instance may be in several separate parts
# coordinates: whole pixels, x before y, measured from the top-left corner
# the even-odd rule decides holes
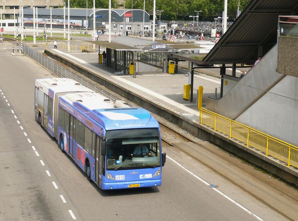
[[[224,196],[207,186],[223,180],[173,147],[162,186],[99,189],[34,119],[35,79],[52,74],[5,46],[0,59],[0,220],[284,220],[226,181]]]

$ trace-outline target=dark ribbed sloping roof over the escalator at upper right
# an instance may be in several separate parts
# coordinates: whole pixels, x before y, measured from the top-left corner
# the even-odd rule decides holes
[[[293,0],[252,0],[202,59],[200,64],[251,63],[277,43],[279,15],[296,15],[298,2]],[[173,54],[179,59],[189,55]]]

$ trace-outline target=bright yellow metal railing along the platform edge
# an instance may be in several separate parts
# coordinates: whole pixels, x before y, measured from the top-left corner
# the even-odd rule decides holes
[[[254,147],[265,153],[266,156],[274,156],[284,161],[288,166],[298,167],[298,147],[262,133],[239,122],[221,116],[217,113],[200,108],[200,122],[226,134],[229,138],[235,138],[246,144],[246,147]]]

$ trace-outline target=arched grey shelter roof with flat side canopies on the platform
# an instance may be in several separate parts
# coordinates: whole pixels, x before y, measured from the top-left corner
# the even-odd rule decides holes
[[[131,36],[117,36],[108,41],[87,41],[96,45],[104,46],[117,51],[134,51],[134,52],[164,52],[164,51],[183,51],[202,49],[200,46],[193,44],[180,44],[178,42],[164,40],[147,40],[143,38],[134,38]]]

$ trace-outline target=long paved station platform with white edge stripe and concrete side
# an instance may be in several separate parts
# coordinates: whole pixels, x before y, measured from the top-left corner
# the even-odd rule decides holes
[[[218,88],[217,98],[219,98],[221,81],[216,76],[195,73],[194,97],[193,102],[190,102],[183,99],[183,86],[189,83],[188,70],[178,69],[176,74],[143,71],[136,74],[134,78],[133,75],[123,74],[113,67],[99,64],[98,53],[72,53],[63,49],[41,50],[41,48],[38,48],[37,51],[40,54],[45,52],[54,60],[66,64],[122,97],[162,116],[194,136],[205,141],[211,141],[227,151],[234,152],[241,158],[298,186],[298,170],[296,168],[288,167],[276,158],[266,156],[259,150],[247,147],[243,142],[231,139],[220,131],[215,131],[212,127],[201,124],[199,119],[200,111],[196,103],[196,90],[199,86],[204,87],[203,107],[204,100],[207,97],[215,97],[215,88]],[[58,70],[58,63],[55,69]],[[55,71],[52,72],[55,73]],[[63,74],[61,76],[63,77]]]

